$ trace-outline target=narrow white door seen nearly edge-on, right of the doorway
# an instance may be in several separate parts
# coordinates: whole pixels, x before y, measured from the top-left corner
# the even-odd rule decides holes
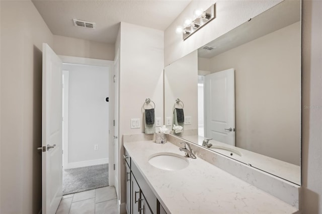
[[[120,72],[120,57],[117,51],[114,62],[114,164],[115,164],[115,189],[119,198],[119,72]]]

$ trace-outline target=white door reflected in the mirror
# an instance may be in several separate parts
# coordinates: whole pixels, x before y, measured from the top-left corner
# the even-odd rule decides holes
[[[234,69],[205,76],[205,137],[235,145]]]

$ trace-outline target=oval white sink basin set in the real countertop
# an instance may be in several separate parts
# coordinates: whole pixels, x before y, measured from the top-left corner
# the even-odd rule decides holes
[[[170,171],[184,169],[189,165],[187,158],[169,152],[156,153],[149,157],[148,162],[156,168]]]

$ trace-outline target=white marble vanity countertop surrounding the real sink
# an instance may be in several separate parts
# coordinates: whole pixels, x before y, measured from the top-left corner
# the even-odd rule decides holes
[[[202,160],[191,159],[178,171],[153,167],[148,158],[159,152],[184,152],[168,142],[124,142],[131,160],[168,213],[294,213],[296,208]]]

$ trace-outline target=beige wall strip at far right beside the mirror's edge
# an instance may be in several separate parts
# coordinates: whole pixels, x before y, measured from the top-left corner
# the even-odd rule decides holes
[[[322,1],[304,0],[302,2],[303,213],[322,213],[321,36]],[[306,109],[306,106],[313,109]]]

